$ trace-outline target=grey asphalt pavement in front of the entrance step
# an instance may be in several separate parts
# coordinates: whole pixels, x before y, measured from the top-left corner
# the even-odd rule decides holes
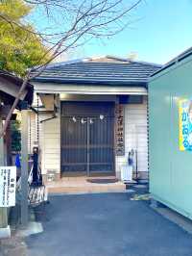
[[[192,256],[192,236],[127,193],[51,197],[30,256]]]

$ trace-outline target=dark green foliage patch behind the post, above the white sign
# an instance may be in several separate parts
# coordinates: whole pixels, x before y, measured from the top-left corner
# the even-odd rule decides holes
[[[20,121],[18,120],[12,121],[11,131],[12,131],[12,151],[18,152],[21,150]]]

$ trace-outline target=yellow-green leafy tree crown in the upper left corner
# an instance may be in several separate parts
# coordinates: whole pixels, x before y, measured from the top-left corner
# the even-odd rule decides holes
[[[24,18],[32,7],[22,0],[0,1],[0,68],[23,76],[27,68],[46,62],[46,52],[34,28]],[[10,22],[8,22],[10,21]],[[40,61],[39,61],[40,60]]]

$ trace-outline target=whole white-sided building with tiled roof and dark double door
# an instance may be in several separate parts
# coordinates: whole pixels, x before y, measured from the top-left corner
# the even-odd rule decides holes
[[[134,172],[147,178],[147,84],[157,69],[106,57],[52,64],[36,77],[29,150],[39,144],[44,179],[123,179],[131,152]]]

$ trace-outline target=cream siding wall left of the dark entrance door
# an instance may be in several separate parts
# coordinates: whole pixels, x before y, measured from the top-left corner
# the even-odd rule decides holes
[[[60,173],[60,117],[40,123],[40,120],[52,116],[45,113],[39,114],[39,163],[41,163],[42,174],[49,171]],[[37,115],[30,112],[28,152],[31,154],[33,147],[37,145],[36,121]]]

